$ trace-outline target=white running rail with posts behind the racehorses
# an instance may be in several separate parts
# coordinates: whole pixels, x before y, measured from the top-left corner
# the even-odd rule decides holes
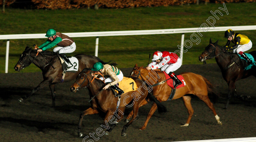
[[[155,30],[133,30],[133,31],[108,31],[108,32],[81,32],[81,33],[63,33],[69,37],[96,37],[95,43],[95,56],[98,56],[99,36],[130,36],[130,35],[152,35],[152,34],[172,34],[182,33],[181,45],[184,43],[184,33],[197,33],[197,32],[216,32],[226,31],[227,29],[237,30],[256,30],[256,25],[253,26],[223,26],[223,27],[210,27],[205,28],[182,28],[182,29],[155,29]],[[9,40],[12,39],[37,39],[46,38],[45,33],[37,34],[10,34],[0,35],[0,40],[7,40],[6,42],[6,57],[5,57],[5,73],[8,73],[8,59],[9,59]],[[183,54],[183,46],[180,48],[180,53]],[[181,61],[183,56],[180,57]]]

